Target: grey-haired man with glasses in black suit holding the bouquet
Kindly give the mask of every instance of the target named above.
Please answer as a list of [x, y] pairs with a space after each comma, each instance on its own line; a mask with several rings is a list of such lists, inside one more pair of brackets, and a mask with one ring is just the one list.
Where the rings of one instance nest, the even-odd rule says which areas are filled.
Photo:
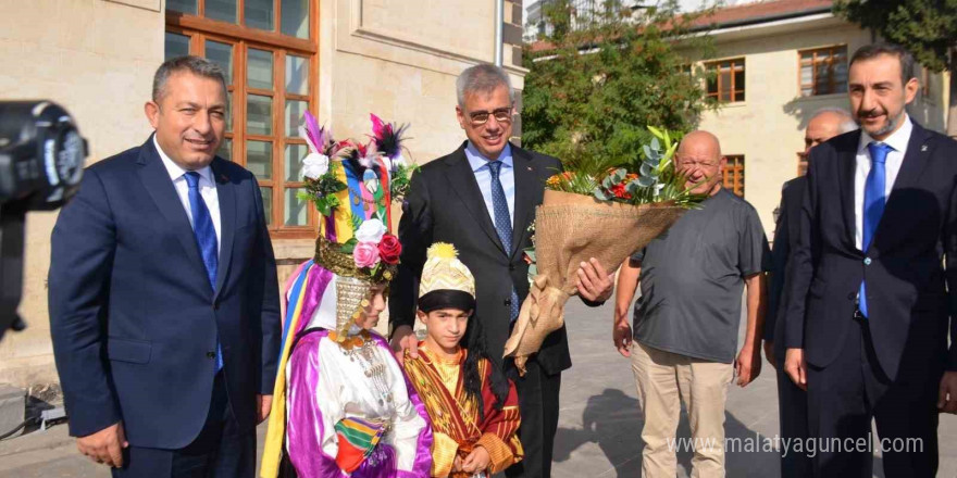
[[[402, 256], [389, 294], [391, 343], [397, 353], [417, 349], [412, 331], [425, 250], [437, 241], [458, 248], [475, 275], [476, 316], [488, 352], [500, 357], [519, 305], [529, 293], [529, 225], [542, 203], [545, 180], [561, 171], [559, 160], [521, 149], [512, 133], [514, 99], [508, 74], [481, 64], [459, 76], [459, 124], [469, 140], [451, 154], [422, 166], [402, 205]], [[592, 305], [611, 295], [613, 282], [593, 260], [579, 269], [579, 293]], [[549, 335], [529, 361], [524, 377], [513, 376], [525, 457], [506, 471], [511, 477], [547, 478], [558, 429], [561, 372], [571, 367], [566, 329]]]

